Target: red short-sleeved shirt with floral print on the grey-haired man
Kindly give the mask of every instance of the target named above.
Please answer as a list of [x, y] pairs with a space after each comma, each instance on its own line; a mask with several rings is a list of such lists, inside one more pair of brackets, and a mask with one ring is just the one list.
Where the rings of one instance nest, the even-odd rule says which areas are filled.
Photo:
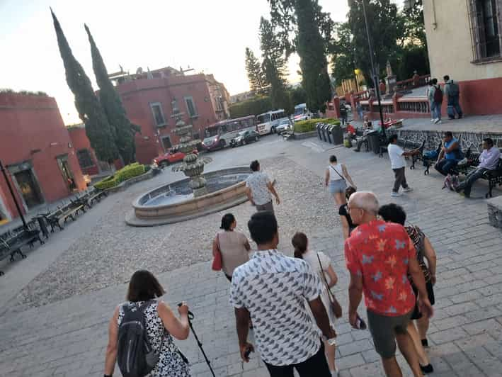
[[408, 280], [408, 262], [416, 251], [399, 224], [374, 220], [359, 225], [345, 242], [351, 274], [363, 276], [366, 308], [380, 315], [409, 313], [415, 295]]

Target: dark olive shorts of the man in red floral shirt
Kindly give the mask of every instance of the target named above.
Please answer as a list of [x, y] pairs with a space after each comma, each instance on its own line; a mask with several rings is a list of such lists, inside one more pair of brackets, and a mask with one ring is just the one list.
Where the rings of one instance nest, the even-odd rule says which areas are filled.
[[413, 310], [405, 315], [390, 317], [367, 310], [367, 322], [370, 326], [373, 344], [383, 359], [390, 359], [396, 355], [396, 335], [406, 334], [406, 327], [410, 322]]

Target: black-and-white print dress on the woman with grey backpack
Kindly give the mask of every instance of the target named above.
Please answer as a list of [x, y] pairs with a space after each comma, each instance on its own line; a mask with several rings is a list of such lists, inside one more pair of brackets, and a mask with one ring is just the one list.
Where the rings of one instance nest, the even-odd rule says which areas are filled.
[[[124, 305], [141, 306], [144, 301], [137, 303], [123, 303], [118, 312], [118, 325], [124, 319]], [[147, 377], [190, 377], [188, 364], [183, 361], [181, 353], [173, 342], [173, 337], [164, 328], [159, 313], [157, 313], [158, 301], [152, 301], [144, 310], [144, 320], [147, 325], [147, 334], [152, 348], [159, 354], [159, 362]]]

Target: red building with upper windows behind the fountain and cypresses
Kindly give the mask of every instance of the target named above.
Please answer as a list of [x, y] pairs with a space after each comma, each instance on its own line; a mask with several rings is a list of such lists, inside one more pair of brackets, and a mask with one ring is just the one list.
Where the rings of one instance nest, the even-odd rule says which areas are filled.
[[152, 163], [179, 140], [173, 133], [173, 101], [186, 124], [194, 126], [194, 137], [204, 137], [205, 127], [229, 117], [229, 94], [212, 74], [186, 75], [171, 67], [137, 74], [112, 74], [115, 89], [127, 116], [141, 127], [136, 135], [137, 161]]

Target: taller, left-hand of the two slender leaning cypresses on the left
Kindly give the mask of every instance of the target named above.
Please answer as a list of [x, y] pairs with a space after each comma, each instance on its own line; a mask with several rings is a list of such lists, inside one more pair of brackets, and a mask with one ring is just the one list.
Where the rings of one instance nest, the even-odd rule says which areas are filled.
[[91, 80], [73, 56], [72, 49], [69, 47], [67, 38], [64, 36], [52, 9], [50, 12], [56, 30], [57, 45], [66, 70], [67, 83], [75, 96], [75, 107], [79, 112], [79, 117], [86, 125], [86, 135], [89, 137], [91, 147], [96, 152], [98, 159], [112, 162], [118, 158], [114, 130], [110, 127], [103, 108], [101, 108], [93, 91]]

